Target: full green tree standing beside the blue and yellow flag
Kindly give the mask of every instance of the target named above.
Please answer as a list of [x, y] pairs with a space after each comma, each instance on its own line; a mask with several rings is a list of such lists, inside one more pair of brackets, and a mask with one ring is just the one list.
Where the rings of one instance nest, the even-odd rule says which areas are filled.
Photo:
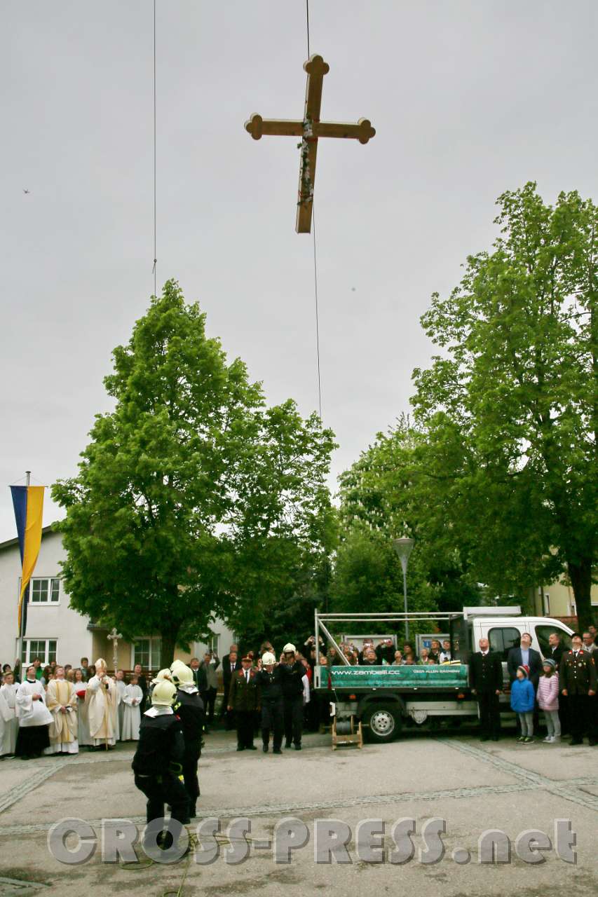
[[267, 408], [174, 281], [113, 362], [114, 410], [52, 490], [66, 589], [129, 639], [160, 635], [168, 662], [215, 615], [264, 614], [298, 559], [326, 554], [333, 437], [290, 400]]

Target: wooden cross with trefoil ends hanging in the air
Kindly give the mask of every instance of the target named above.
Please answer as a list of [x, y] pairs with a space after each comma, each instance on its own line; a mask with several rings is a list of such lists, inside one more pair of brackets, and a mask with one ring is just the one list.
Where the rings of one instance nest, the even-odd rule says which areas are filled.
[[297, 200], [297, 220], [295, 231], [309, 233], [312, 230], [313, 185], [315, 183], [315, 163], [319, 137], [353, 137], [360, 144], [366, 144], [374, 135], [372, 123], [360, 118], [356, 125], [341, 125], [336, 122], [320, 121], [321, 89], [324, 75], [330, 65], [321, 56], [314, 55], [303, 63], [307, 72], [305, 88], [305, 109], [303, 121], [261, 118], [254, 113], [245, 122], [245, 130], [254, 140], [266, 135], [301, 137], [301, 165], [299, 168], [299, 198]]

